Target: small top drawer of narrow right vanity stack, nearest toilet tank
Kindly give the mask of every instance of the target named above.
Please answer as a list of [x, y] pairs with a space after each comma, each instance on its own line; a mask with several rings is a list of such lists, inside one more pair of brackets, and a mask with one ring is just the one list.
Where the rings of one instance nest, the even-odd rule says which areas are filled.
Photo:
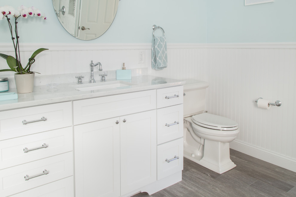
[[183, 103], [183, 86], [167, 87], [157, 90], [157, 108]]

